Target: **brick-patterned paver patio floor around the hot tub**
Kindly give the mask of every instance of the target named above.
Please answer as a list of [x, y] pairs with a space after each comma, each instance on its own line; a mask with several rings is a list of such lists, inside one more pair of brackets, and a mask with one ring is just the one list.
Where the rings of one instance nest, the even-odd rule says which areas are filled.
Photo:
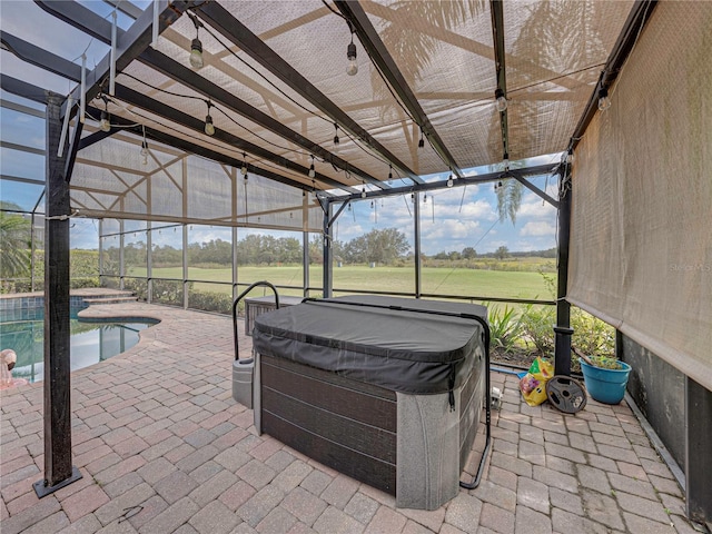
[[256, 435], [253, 412], [231, 397], [230, 319], [140, 303], [82, 314], [161, 323], [72, 374], [83, 478], [41, 501], [42, 385], [1, 393], [2, 534], [695, 532], [625, 404], [531, 408], [515, 376], [493, 373], [504, 403], [479, 487], [433, 512], [397, 510], [394, 497]]

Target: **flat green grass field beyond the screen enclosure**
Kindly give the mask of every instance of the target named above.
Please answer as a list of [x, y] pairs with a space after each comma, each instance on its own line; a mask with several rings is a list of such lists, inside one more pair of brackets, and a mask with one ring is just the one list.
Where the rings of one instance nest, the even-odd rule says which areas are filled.
[[[146, 276], [146, 269], [134, 268], [130, 276]], [[309, 268], [310, 285], [322, 285], [322, 267]], [[154, 278], [182, 279], [180, 267], [154, 268]], [[190, 267], [188, 273], [196, 290], [231, 293], [229, 285], [211, 283], [230, 283], [233, 273], [229, 268], [206, 269]], [[267, 280], [276, 286], [301, 287], [301, 266], [275, 266], [238, 268], [240, 284]], [[413, 293], [415, 274], [412, 267], [374, 267], [344, 266], [334, 268], [333, 287], [340, 290]], [[553, 297], [546, 288], [545, 280], [538, 273], [511, 270], [482, 270], [467, 268], [425, 267], [422, 269], [422, 291], [461, 297], [485, 298], [540, 298], [551, 300]], [[280, 290], [280, 294], [300, 295], [295, 291]]]

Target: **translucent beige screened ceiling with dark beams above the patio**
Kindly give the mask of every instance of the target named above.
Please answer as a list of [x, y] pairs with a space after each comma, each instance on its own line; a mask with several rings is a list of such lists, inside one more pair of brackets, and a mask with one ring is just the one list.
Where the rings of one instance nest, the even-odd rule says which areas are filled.
[[[464, 178], [473, 175], [467, 169], [501, 166], [505, 156], [536, 170], [528, 158], [571, 147], [605, 87], [610, 73], [602, 72], [620, 36], [646, 3], [106, 1], [128, 23], [116, 30], [113, 90], [110, 52], [87, 67], [87, 118], [72, 177], [76, 191], [89, 191], [82, 202], [97, 200], [96, 212], [108, 181], [131, 188], [129, 175], [169, 168], [185, 151], [234, 172], [246, 162], [266, 187], [337, 196], [418, 187], [435, 172]], [[88, 39], [111, 43], [112, 18], [95, 12], [92, 2], [34, 3]], [[70, 80], [75, 103], [63, 111], [77, 113], [81, 60], [4, 26], [2, 53]], [[200, 69], [189, 61], [196, 38]], [[354, 76], [347, 73], [352, 39]], [[7, 76], [2, 88], [30, 98], [37, 89]], [[502, 111], [498, 91], [507, 99]], [[111, 131], [98, 128], [102, 110]], [[205, 131], [208, 115], [212, 135]], [[144, 135], [148, 168], [139, 156]]]

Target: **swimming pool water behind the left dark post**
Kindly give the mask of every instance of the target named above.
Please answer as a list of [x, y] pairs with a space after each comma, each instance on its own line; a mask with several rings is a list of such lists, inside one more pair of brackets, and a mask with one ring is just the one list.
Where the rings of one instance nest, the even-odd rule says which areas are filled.
[[[70, 367], [71, 370], [88, 367], [121, 354], [138, 343], [138, 333], [156, 322], [92, 323], [79, 320], [70, 312]], [[0, 317], [0, 349], [11, 348], [18, 355], [12, 369], [13, 378], [39, 382], [44, 374], [44, 317], [43, 308], [30, 308], [3, 313]]]

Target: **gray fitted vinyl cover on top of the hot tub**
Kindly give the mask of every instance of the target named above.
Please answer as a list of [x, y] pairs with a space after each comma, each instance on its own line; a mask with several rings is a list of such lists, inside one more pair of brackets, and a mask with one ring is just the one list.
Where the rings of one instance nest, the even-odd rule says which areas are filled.
[[253, 344], [259, 354], [354, 380], [437, 394], [459, 387], [484, 355], [483, 327], [473, 316], [486, 317], [486, 308], [382, 296], [307, 300], [259, 315]]

